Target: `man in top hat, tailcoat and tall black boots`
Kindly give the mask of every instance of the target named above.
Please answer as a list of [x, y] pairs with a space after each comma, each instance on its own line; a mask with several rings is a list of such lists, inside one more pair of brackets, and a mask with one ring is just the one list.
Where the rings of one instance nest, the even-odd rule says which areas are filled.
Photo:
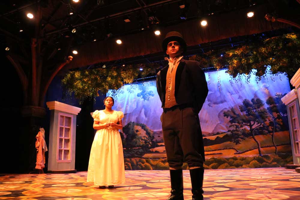
[[164, 112], [161, 115], [171, 196], [183, 199], [182, 165], [190, 168], [193, 200], [203, 199], [204, 146], [198, 113], [208, 94], [205, 74], [197, 61], [184, 60], [187, 45], [182, 35], [169, 32], [162, 47], [169, 64], [157, 74], [156, 86]]

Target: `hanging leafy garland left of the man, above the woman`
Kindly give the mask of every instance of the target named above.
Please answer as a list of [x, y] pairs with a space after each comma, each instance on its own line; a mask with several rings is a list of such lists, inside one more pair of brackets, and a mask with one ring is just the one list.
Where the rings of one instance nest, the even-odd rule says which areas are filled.
[[113, 90], [116, 93], [123, 84], [134, 82], [139, 75], [143, 78], [148, 74], [155, 74], [159, 67], [158, 64], [137, 64], [70, 71], [62, 79], [62, 84], [69, 94], [73, 93], [80, 100], [79, 103], [82, 103], [85, 98], [98, 96], [98, 91], [105, 94], [108, 90]]

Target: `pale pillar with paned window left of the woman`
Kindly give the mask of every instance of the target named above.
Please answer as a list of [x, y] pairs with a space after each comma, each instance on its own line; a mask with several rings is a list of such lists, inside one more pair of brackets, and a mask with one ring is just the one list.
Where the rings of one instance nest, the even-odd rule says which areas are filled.
[[46, 104], [51, 110], [48, 173], [76, 172], [76, 116], [81, 108], [58, 101]]

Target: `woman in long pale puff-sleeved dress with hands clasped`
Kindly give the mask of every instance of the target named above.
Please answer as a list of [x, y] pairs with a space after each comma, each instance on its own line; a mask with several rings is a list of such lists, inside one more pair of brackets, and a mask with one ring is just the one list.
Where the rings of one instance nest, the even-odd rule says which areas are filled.
[[104, 110], [93, 113], [97, 130], [88, 162], [88, 182], [94, 182], [99, 188], [114, 187], [125, 183], [123, 146], [119, 129], [122, 129], [123, 112], [112, 109], [113, 97], [104, 99]]

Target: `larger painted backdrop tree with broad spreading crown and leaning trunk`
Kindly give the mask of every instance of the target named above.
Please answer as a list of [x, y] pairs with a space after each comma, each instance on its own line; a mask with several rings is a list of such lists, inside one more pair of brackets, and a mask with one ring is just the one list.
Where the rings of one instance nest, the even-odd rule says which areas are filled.
[[268, 120], [268, 110], [264, 108], [264, 103], [259, 98], [251, 100], [244, 99], [242, 104], [238, 106], [239, 111], [231, 108], [223, 112], [224, 117], [229, 118], [232, 127], [232, 142], [241, 143], [246, 138], [252, 138], [258, 147], [258, 153], [262, 156], [260, 142], [255, 136], [266, 134], [265, 131], [257, 131], [259, 127]]

